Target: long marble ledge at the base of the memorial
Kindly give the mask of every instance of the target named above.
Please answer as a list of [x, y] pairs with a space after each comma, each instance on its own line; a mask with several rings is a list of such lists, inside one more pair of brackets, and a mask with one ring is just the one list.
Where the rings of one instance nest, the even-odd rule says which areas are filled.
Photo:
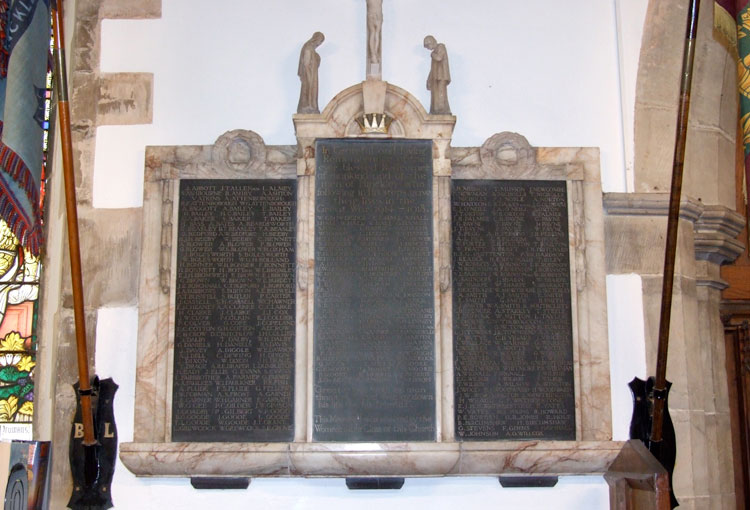
[[438, 477], [601, 475], [618, 441], [463, 443], [122, 443], [120, 458], [151, 477]]

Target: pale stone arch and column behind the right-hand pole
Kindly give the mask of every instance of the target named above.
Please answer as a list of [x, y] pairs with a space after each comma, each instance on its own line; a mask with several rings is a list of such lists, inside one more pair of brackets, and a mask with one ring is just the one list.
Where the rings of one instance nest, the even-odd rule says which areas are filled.
[[[667, 194], [671, 187], [687, 1], [650, 0], [641, 41], [634, 112], [634, 206], [626, 215], [640, 236], [660, 247], [647, 262], [643, 251], [635, 272], [643, 285], [648, 373], [656, 361], [661, 268]], [[673, 328], [667, 377], [673, 383], [670, 412], [677, 432], [674, 489], [684, 505], [711, 504], [732, 484], [724, 339], [719, 322], [719, 265], [737, 256], [735, 209], [737, 136], [736, 54], [714, 35], [713, 2], [698, 20], [691, 105], [678, 230]], [[648, 225], [636, 203], [652, 202]], [[695, 213], [690, 211], [694, 210]], [[619, 221], [619, 220], [615, 220]], [[614, 223], [611, 223], [613, 225]], [[633, 227], [629, 227], [633, 228]], [[616, 234], [610, 236], [614, 244]], [[628, 248], [630, 250], [631, 248]], [[739, 251], [738, 251], [739, 249]], [[675, 317], [680, 320], [674, 322]], [[694, 374], [700, 371], [701, 383]], [[697, 431], [700, 431], [699, 433]], [[726, 459], [720, 463], [718, 459]]]

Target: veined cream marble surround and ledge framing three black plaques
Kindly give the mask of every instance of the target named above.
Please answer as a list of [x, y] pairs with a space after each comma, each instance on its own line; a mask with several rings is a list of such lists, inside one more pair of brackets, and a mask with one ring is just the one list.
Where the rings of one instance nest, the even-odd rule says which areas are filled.
[[[363, 127], [388, 119], [388, 133]], [[297, 145], [267, 146], [247, 130], [211, 146], [149, 147], [143, 203], [134, 441], [120, 445], [139, 476], [450, 476], [602, 474], [623, 447], [611, 441], [605, 250], [596, 148], [531, 147], [498, 133], [451, 147], [456, 117], [431, 115], [407, 91], [369, 76], [321, 113], [293, 118]], [[363, 122], [364, 120], [364, 122]], [[315, 141], [432, 142], [435, 440], [313, 440]], [[296, 179], [294, 434], [289, 442], [172, 440], [177, 225], [181, 179]], [[460, 441], [454, 430], [451, 179], [564, 181], [568, 200], [575, 440]]]

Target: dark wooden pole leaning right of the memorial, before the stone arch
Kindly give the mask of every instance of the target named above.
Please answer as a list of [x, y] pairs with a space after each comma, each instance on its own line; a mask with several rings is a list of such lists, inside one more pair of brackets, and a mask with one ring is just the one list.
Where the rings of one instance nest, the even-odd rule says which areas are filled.
[[669, 322], [672, 315], [672, 287], [674, 281], [675, 255], [677, 252], [677, 225], [680, 221], [680, 195], [682, 194], [682, 170], [685, 163], [685, 140], [690, 112], [690, 87], [693, 78], [695, 56], [695, 34], [698, 29], [700, 0], [690, 0], [687, 33], [682, 55], [682, 81], [680, 104], [677, 109], [674, 159], [672, 165], [672, 189], [669, 195], [669, 217], [667, 219], [667, 247], [664, 251], [664, 280], [661, 294], [661, 318], [659, 321], [659, 346], [656, 355], [656, 380], [654, 382], [654, 411], [651, 423], [651, 441], [662, 438], [664, 402], [667, 398], [667, 353], [669, 352]]

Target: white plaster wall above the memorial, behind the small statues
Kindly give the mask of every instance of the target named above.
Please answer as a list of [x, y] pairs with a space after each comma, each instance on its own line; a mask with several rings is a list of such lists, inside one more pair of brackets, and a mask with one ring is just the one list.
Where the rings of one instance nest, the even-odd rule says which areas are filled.
[[[294, 143], [302, 43], [316, 30], [327, 38], [319, 49], [322, 107], [364, 79], [364, 4], [164, 0], [162, 19], [105, 20], [101, 70], [154, 72], [154, 123], [99, 128], [94, 206], [141, 204], [146, 144], [210, 144], [236, 128], [269, 144]], [[600, 147], [605, 190], [625, 191], [614, 2], [471, 6], [386, 1], [383, 78], [429, 104], [422, 40], [433, 34], [450, 57], [454, 145], [481, 145], [508, 130], [536, 146]]]

